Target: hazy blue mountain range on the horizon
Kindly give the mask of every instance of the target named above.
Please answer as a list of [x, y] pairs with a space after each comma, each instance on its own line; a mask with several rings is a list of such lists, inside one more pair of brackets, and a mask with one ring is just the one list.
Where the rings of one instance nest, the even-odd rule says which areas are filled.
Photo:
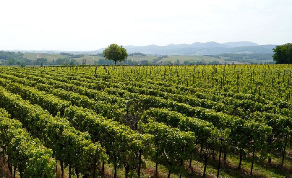
[[[195, 42], [193, 44], [179, 45], [148, 45], [148, 46], [124, 46], [128, 53], [144, 53], [157, 55], [216, 55], [222, 53], [247, 53], [247, 54], [267, 54], [273, 53], [273, 48], [276, 45], [258, 45], [253, 42]], [[97, 53], [102, 53], [104, 48], [97, 50]]]

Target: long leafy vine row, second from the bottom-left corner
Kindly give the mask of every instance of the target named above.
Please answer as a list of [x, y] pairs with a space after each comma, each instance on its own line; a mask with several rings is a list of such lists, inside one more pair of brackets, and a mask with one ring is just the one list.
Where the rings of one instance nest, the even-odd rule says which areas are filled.
[[39, 138], [53, 150], [56, 160], [69, 165], [70, 174], [95, 174], [95, 164], [106, 160], [107, 156], [99, 143], [92, 143], [90, 136], [75, 130], [61, 117], [52, 117], [40, 106], [32, 105], [20, 96], [0, 87], [0, 106], [13, 117], [18, 118], [29, 133]]

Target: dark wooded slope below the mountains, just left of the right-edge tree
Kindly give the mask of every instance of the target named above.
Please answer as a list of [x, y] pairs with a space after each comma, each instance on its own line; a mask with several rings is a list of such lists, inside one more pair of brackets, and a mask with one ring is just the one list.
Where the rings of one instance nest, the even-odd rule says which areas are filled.
[[254, 59], [254, 60], [270, 60], [273, 59], [273, 54], [233, 54], [233, 53], [225, 53], [225, 54], [217, 54], [217, 55], [205, 55], [213, 58], [221, 59], [221, 57], [229, 58], [228, 61], [232, 61], [234, 59]]

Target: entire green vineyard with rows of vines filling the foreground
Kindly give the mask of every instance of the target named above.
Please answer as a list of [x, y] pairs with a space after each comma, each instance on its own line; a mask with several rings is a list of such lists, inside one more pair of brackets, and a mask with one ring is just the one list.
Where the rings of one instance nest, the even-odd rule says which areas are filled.
[[10, 174], [292, 177], [292, 65], [0, 67]]

